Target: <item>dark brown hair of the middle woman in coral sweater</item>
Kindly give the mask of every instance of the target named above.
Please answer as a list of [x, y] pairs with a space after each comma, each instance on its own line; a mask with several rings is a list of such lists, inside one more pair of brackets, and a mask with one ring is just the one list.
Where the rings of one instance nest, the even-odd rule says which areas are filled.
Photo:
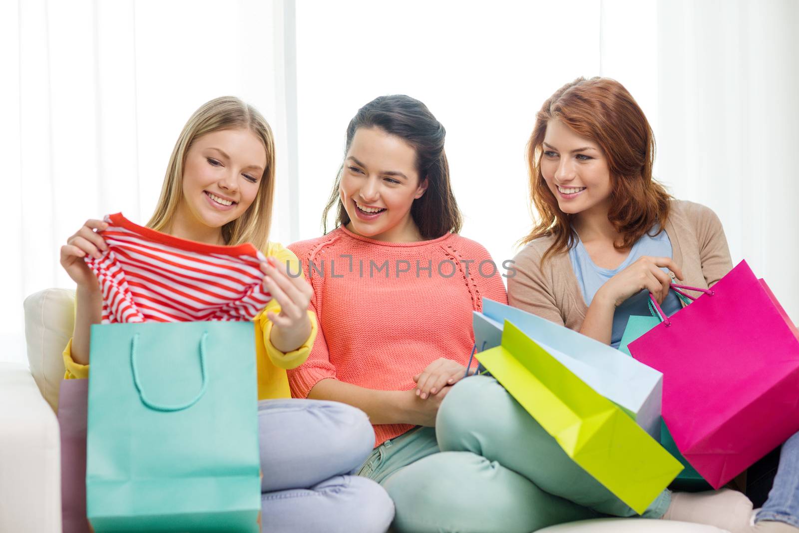
[[[389, 135], [400, 137], [416, 152], [416, 171], [419, 183], [427, 179], [427, 191], [413, 201], [411, 217], [425, 239], [435, 239], [446, 233], [458, 233], [462, 217], [450, 185], [449, 164], [444, 153], [444, 137], [447, 131], [435, 119], [433, 113], [419, 100], [394, 94], [376, 97], [358, 109], [347, 126], [347, 146], [358, 128], [380, 128]], [[339, 197], [339, 186], [344, 165], [336, 176], [336, 183], [322, 214], [322, 228], [328, 233], [328, 213], [336, 207], [336, 227], [349, 224], [350, 218]]]

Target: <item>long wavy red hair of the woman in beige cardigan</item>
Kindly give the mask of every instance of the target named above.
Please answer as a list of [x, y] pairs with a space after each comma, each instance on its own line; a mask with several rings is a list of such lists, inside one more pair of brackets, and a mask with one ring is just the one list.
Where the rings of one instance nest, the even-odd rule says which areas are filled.
[[574, 245], [574, 215], [560, 210], [541, 173], [544, 135], [547, 124], [554, 119], [602, 148], [611, 181], [607, 218], [622, 235], [622, 241], [614, 243], [615, 248], [630, 248], [655, 224], [662, 231], [669, 217], [671, 197], [652, 177], [654, 134], [649, 121], [621, 83], [610, 78], [577, 78], [555, 91], [535, 115], [535, 128], [527, 143], [527, 164], [530, 197], [538, 217], [530, 235], [520, 242], [555, 237], [544, 258], [566, 252]]

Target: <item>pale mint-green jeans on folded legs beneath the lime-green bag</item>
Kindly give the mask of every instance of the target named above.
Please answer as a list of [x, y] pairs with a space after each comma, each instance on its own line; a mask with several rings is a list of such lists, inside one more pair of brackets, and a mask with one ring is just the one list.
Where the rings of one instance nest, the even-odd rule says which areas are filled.
[[[635, 516], [582, 470], [497, 380], [461, 380], [432, 428], [376, 447], [361, 475], [396, 505], [400, 533], [529, 533], [602, 515]], [[660, 518], [663, 491], [643, 514]]]

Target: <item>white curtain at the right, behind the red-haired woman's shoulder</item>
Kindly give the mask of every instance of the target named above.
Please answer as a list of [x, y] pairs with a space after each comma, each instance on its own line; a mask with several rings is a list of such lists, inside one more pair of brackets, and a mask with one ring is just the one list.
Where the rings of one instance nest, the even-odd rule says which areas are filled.
[[765, 278], [795, 323], [797, 29], [794, 0], [658, 3], [660, 176], [718, 213], [733, 263]]

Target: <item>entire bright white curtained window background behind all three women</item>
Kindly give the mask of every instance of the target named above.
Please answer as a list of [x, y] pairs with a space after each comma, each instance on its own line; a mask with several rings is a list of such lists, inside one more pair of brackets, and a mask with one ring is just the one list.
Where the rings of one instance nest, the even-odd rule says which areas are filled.
[[[530, 228], [524, 149], [563, 83], [622, 82], [658, 141], [656, 176], [721, 217], [799, 320], [793, 0], [311, 2], [18, 0], [0, 5], [6, 230], [0, 360], [24, 360], [23, 298], [70, 286], [58, 248], [86, 218], [145, 222], [182, 125], [221, 94], [275, 130], [272, 238], [320, 235], [344, 130], [407, 93], [447, 127], [463, 235], [498, 263]], [[295, 44], [296, 43], [296, 44]]]

